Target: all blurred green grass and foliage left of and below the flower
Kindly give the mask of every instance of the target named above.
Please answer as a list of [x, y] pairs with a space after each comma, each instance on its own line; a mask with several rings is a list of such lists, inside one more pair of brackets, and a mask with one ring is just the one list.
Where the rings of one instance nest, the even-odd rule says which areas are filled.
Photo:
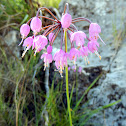
[[[0, 2], [0, 125], [24, 126], [46, 125], [69, 126], [64, 80], [54, 74], [50, 66], [49, 96], [45, 89], [45, 72], [39, 60], [29, 51], [24, 59], [13, 53], [4, 41], [4, 36], [11, 30], [19, 31], [21, 24], [35, 15], [41, 6], [58, 8], [60, 0], [1, 0]], [[20, 37], [19, 37], [20, 38]], [[18, 45], [18, 43], [17, 43]], [[22, 51], [22, 50], [21, 50]], [[21, 53], [20, 51], [20, 53]], [[53, 73], [53, 74], [51, 74]], [[101, 73], [102, 74], [102, 73]], [[90, 88], [97, 83], [101, 74], [85, 90], [81, 98], [78, 94], [78, 73], [72, 83], [70, 93], [71, 112], [74, 126], [89, 124], [94, 114], [115, 103], [92, 110], [84, 100]], [[82, 108], [82, 104], [84, 104]], [[93, 124], [90, 124], [93, 125]]]

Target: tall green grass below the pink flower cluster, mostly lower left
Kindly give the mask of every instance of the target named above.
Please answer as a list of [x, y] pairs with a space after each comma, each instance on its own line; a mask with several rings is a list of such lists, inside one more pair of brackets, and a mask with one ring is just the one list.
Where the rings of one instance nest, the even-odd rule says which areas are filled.
[[[24, 60], [12, 60], [7, 58], [6, 51], [0, 48], [2, 59], [2, 64], [0, 64], [0, 119], [7, 125], [16, 125], [16, 118], [18, 117], [19, 126], [25, 124], [28, 125], [39, 125], [42, 119], [42, 111], [44, 111], [46, 106], [46, 111], [49, 117], [49, 126], [69, 126], [69, 116], [66, 104], [64, 103], [63, 94], [65, 91], [62, 89], [63, 80], [57, 83], [54, 88], [54, 83], [56, 83], [56, 77], [58, 73], [55, 73], [52, 80], [52, 84], [49, 90], [49, 97], [46, 98], [42, 90], [38, 90], [38, 84], [36, 79], [33, 78], [34, 68], [37, 64], [40, 56], [33, 56], [32, 50], [24, 57]], [[7, 65], [5, 69], [5, 65]], [[23, 68], [23, 69], [22, 69]], [[8, 72], [6, 72], [8, 71]], [[40, 71], [38, 68], [37, 73]], [[36, 74], [37, 74], [36, 73]], [[99, 80], [101, 75], [99, 75], [92, 84], [87, 88], [82, 97], [76, 100], [76, 104], [73, 106], [71, 104], [71, 114], [74, 126], [83, 126], [88, 124], [88, 120], [96, 113], [117, 104], [119, 101], [101, 106], [97, 109], [92, 109], [89, 107], [89, 101], [83, 103], [83, 98], [86, 96], [88, 91], [94, 86], [94, 84]], [[33, 79], [31, 79], [33, 78]], [[76, 79], [78, 79], [76, 77]], [[75, 81], [77, 82], [77, 80]], [[10, 88], [11, 87], [11, 88]], [[9, 89], [8, 89], [9, 88]], [[72, 91], [70, 93], [70, 102], [73, 103], [73, 90], [75, 85], [73, 85]], [[5, 92], [12, 94], [9, 95], [9, 99], [6, 101]], [[22, 92], [22, 93], [21, 93]], [[6, 94], [6, 95], [5, 95]], [[4, 96], [4, 97], [3, 97]], [[44, 102], [41, 98], [45, 98]], [[5, 102], [6, 101], [6, 102]], [[83, 104], [85, 107], [81, 107]], [[33, 106], [33, 108], [32, 108]], [[32, 110], [30, 110], [32, 108]], [[35, 111], [34, 111], [35, 110]], [[34, 116], [34, 114], [36, 116]], [[34, 118], [34, 120], [32, 120]], [[46, 120], [45, 115], [43, 119]], [[93, 125], [93, 124], [92, 124]]]

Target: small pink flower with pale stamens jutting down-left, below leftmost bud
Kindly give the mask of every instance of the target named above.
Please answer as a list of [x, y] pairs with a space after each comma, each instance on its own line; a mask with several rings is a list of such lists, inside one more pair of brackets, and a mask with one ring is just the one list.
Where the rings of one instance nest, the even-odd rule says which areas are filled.
[[22, 54], [22, 57], [24, 57], [25, 53], [31, 48], [32, 44], [33, 44], [33, 38], [32, 37], [28, 37], [24, 40], [23, 46], [25, 46], [26, 48], [25, 48], [25, 50]]

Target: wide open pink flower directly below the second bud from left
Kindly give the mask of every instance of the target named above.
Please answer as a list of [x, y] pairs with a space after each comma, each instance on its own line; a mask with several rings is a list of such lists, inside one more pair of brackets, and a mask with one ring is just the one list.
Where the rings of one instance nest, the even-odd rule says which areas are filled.
[[32, 49], [36, 49], [36, 52], [40, 52], [46, 45], [48, 44], [48, 40], [44, 35], [38, 35], [33, 40], [33, 47]]

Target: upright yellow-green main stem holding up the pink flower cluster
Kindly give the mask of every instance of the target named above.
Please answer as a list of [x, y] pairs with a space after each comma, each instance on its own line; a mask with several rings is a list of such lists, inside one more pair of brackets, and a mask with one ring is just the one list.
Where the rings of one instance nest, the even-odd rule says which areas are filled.
[[[67, 32], [64, 30], [65, 36], [65, 52], [67, 52]], [[66, 72], [66, 95], [67, 95], [67, 106], [69, 111], [69, 121], [70, 126], [72, 126], [72, 118], [71, 118], [71, 111], [70, 111], [70, 99], [69, 99], [69, 85], [68, 85], [68, 66], [65, 67]]]

